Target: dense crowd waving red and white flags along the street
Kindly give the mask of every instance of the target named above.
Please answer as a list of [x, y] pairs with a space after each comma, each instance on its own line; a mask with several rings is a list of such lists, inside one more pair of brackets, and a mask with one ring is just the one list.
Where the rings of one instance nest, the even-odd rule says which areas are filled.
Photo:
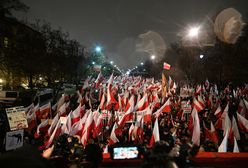
[[27, 107], [26, 131], [46, 158], [97, 167], [114, 146], [136, 145], [143, 167], [186, 167], [198, 151], [247, 152], [247, 97], [247, 85], [99, 74], [53, 105]]

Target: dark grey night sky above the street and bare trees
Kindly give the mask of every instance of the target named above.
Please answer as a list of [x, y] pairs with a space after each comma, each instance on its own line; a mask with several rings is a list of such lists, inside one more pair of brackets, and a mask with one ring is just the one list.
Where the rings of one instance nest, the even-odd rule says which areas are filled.
[[88, 48], [100, 44], [104, 54], [121, 68], [132, 68], [147, 58], [147, 54], [135, 52], [139, 34], [155, 31], [168, 46], [185, 26], [203, 22], [224, 8], [233, 7], [246, 18], [248, 11], [247, 0], [21, 1], [30, 10], [18, 13], [20, 19], [44, 19]]

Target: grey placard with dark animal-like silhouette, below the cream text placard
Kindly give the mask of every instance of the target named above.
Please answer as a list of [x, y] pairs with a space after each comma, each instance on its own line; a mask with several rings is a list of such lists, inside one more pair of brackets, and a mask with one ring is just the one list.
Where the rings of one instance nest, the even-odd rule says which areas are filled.
[[20, 148], [23, 146], [23, 135], [24, 130], [16, 130], [6, 133], [6, 143], [5, 149], [6, 151], [13, 150], [16, 148]]

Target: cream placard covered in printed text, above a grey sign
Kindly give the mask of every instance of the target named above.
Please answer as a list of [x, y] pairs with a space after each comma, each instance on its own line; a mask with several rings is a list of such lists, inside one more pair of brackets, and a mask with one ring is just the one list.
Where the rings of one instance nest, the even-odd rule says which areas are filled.
[[28, 122], [23, 106], [6, 108], [5, 111], [11, 131], [28, 128]]

